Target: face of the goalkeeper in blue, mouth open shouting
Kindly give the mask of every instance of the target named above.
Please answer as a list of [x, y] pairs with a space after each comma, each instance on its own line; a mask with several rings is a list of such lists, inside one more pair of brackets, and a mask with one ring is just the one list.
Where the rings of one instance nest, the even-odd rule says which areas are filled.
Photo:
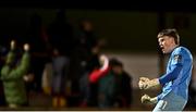
[[163, 53], [170, 53], [177, 46], [174, 38], [169, 36], [158, 38], [158, 42]]

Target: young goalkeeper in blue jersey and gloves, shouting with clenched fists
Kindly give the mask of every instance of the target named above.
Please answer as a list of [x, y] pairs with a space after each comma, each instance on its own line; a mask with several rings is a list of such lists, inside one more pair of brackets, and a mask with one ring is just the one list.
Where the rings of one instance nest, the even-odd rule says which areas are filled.
[[182, 111], [188, 99], [188, 85], [193, 69], [189, 50], [180, 46], [180, 36], [175, 29], [163, 29], [158, 34], [162, 52], [170, 53], [167, 72], [159, 78], [139, 78], [139, 88], [149, 89], [162, 85], [162, 92], [157, 97], [144, 95], [143, 103], [157, 103], [155, 111]]

